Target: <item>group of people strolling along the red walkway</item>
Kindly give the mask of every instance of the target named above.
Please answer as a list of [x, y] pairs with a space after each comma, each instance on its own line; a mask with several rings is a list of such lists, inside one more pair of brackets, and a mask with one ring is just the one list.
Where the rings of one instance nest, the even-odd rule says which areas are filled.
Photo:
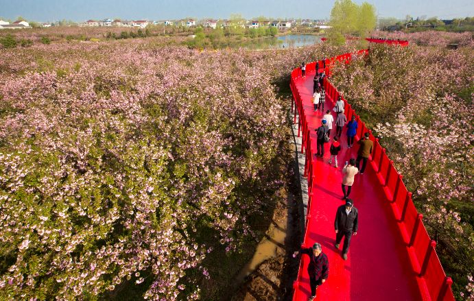
[[[314, 110], [319, 110], [322, 104], [322, 110], [324, 112], [324, 88], [320, 83], [320, 75], [315, 76], [315, 88], [313, 92], [313, 104]], [[318, 83], [318, 85], [316, 85]], [[355, 135], [357, 133], [357, 121], [353, 116], [351, 121], [347, 122], [346, 116], [344, 115], [344, 101], [341, 97], [338, 97], [335, 106], [334, 112], [337, 117], [334, 121], [333, 115], [330, 110], [326, 111], [326, 114], [322, 117], [321, 125], [316, 129], [317, 135], [317, 154], [316, 156], [324, 156], [324, 144], [329, 143], [330, 134], [332, 130], [333, 122], [336, 125], [336, 131], [333, 136], [333, 142], [329, 148], [331, 156], [329, 157], [329, 164], [332, 164], [334, 161], [334, 166], [337, 167], [337, 155], [342, 149], [340, 142], [340, 137], [342, 135], [342, 129], [344, 125], [347, 128], [347, 147], [353, 147], [355, 140]], [[369, 139], [369, 133], [365, 133], [364, 137], [357, 141], [359, 144], [359, 149], [357, 151], [357, 159], [351, 158], [346, 161], [342, 169], [342, 200], [345, 200], [345, 204], [337, 208], [334, 220], [334, 230], [335, 230], [335, 248], [339, 250], [340, 243], [344, 239], [344, 245], [342, 247], [342, 258], [347, 259], [347, 253], [349, 249], [349, 244], [351, 243], [351, 237], [357, 235], [358, 229], [358, 210], [353, 206], [354, 202], [349, 195], [351, 194], [351, 189], [354, 183], [354, 178], [357, 173], [364, 174], [366, 169], [367, 160], [372, 154], [373, 142]], [[360, 168], [360, 162], [362, 161], [362, 168]], [[329, 275], [329, 263], [326, 254], [322, 252], [320, 243], [314, 243], [311, 248], [301, 248], [299, 251], [294, 252], [294, 256], [298, 254], [307, 254], [310, 258], [308, 265], [309, 273], [309, 284], [311, 287], [311, 297], [309, 300], [316, 298], [316, 289], [319, 285], [324, 283]]]

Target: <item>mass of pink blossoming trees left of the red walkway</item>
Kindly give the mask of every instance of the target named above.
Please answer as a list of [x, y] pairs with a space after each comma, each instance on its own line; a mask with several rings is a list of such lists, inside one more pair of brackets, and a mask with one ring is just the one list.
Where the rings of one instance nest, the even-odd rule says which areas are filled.
[[0, 51], [2, 300], [123, 282], [146, 299], [198, 299], [187, 272], [211, 277], [214, 242], [234, 252], [254, 239], [248, 218], [281, 185], [266, 171], [285, 137], [271, 81], [322, 53], [140, 40]]

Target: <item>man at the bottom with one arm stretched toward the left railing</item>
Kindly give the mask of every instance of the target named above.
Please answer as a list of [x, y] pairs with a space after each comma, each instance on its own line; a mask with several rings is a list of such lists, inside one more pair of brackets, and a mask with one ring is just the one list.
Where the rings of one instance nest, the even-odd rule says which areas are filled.
[[329, 262], [326, 254], [321, 250], [320, 243], [314, 243], [312, 248], [300, 248], [299, 251], [293, 253], [293, 257], [296, 257], [298, 254], [307, 254], [309, 256], [308, 275], [309, 287], [311, 287], [309, 301], [311, 301], [316, 298], [318, 286], [326, 282], [329, 275]]

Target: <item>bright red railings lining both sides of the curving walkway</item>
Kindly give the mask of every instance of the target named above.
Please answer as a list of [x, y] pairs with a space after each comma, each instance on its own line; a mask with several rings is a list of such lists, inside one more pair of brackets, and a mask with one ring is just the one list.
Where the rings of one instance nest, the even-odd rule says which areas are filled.
[[[370, 40], [370, 42], [373, 39]], [[380, 41], [380, 42], [379, 42]], [[383, 42], [382, 42], [383, 41]], [[398, 44], [403, 45], [404, 41], [388, 41], [388, 40], [377, 40], [375, 43], [388, 43], [388, 44]], [[368, 54], [368, 50], [364, 49], [357, 51], [357, 54]], [[352, 59], [353, 53], [344, 53], [340, 56], [334, 58], [329, 58], [326, 60], [326, 71], [327, 74], [331, 73], [331, 67], [333, 67], [334, 62], [337, 60], [339, 62], [349, 63]], [[319, 61], [318, 66], [322, 67], [323, 62]], [[315, 71], [316, 62], [307, 65], [307, 72], [310, 73]], [[321, 70], [322, 68], [320, 68]], [[300, 93], [296, 89], [295, 80], [297, 77], [301, 76], [300, 69], [294, 69], [292, 71], [292, 78], [290, 82], [290, 87], [292, 89], [294, 97], [294, 123], [296, 123], [296, 111], [298, 111], [298, 136], [300, 132], [303, 137], [303, 143], [301, 147], [301, 152], [306, 152], [306, 162], [305, 162], [305, 177], [308, 180], [308, 215], [306, 218], [305, 226], [305, 239], [303, 241], [303, 246], [306, 246], [307, 237], [311, 233], [312, 229], [316, 228], [316, 223], [318, 222], [314, 217], [311, 217], [309, 214], [311, 200], [313, 199], [313, 191], [315, 184], [315, 174], [316, 174], [316, 161], [314, 158], [313, 149], [311, 149], [311, 137], [309, 135], [309, 126], [307, 119], [305, 117], [305, 110], [303, 110], [303, 101], [301, 99]], [[324, 80], [324, 88], [326, 90], [328, 99], [334, 101], [340, 95], [337, 89], [327, 80]], [[369, 158], [370, 165], [377, 173], [377, 178], [379, 184], [383, 186], [385, 191], [386, 198], [389, 201], [387, 206], [392, 207], [392, 212], [397, 221], [400, 222], [400, 231], [403, 237], [403, 241], [407, 244], [407, 252], [409, 253], [410, 260], [412, 261], [412, 267], [414, 272], [420, 276], [422, 282], [425, 285], [420, 286], [420, 291], [422, 296], [427, 296], [431, 300], [445, 300], [452, 301], [454, 300], [453, 292], [451, 291], [451, 284], [453, 281], [451, 278], [447, 277], [442, 265], [439, 261], [438, 255], [436, 254], [436, 243], [435, 241], [429, 238], [429, 234], [425, 226], [423, 225], [423, 215], [418, 214], [413, 202], [412, 202], [412, 193], [407, 191], [405, 184], [403, 183], [403, 176], [396, 171], [393, 161], [388, 158], [386, 150], [381, 147], [379, 139], [376, 139], [372, 135], [372, 132], [368, 130], [365, 123], [359, 118], [355, 110], [351, 108], [351, 104], [348, 104], [346, 99], [344, 100], [345, 108], [344, 114], [347, 119], [350, 120], [352, 116], [356, 117], [358, 123], [356, 139], [362, 137], [364, 133], [368, 132], [370, 134], [369, 139], [374, 141], [374, 147], [372, 149], [372, 154]], [[307, 256], [303, 256], [300, 261], [300, 268], [298, 272], [298, 278], [294, 282], [295, 291], [299, 289], [300, 283], [303, 279], [303, 266], [307, 261]], [[296, 296], [296, 293], [294, 294]], [[296, 297], [294, 297], [296, 300]]]

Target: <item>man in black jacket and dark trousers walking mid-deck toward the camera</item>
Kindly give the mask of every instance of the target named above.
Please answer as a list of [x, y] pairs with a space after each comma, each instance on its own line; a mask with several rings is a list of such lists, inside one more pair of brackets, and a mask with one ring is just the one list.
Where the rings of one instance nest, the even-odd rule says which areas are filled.
[[357, 235], [357, 218], [359, 212], [353, 204], [353, 200], [347, 199], [346, 204], [337, 208], [337, 212], [335, 213], [335, 248], [339, 249], [342, 237], [344, 237], [344, 246], [342, 247], [342, 258], [344, 258], [344, 260], [347, 259], [351, 236]]

